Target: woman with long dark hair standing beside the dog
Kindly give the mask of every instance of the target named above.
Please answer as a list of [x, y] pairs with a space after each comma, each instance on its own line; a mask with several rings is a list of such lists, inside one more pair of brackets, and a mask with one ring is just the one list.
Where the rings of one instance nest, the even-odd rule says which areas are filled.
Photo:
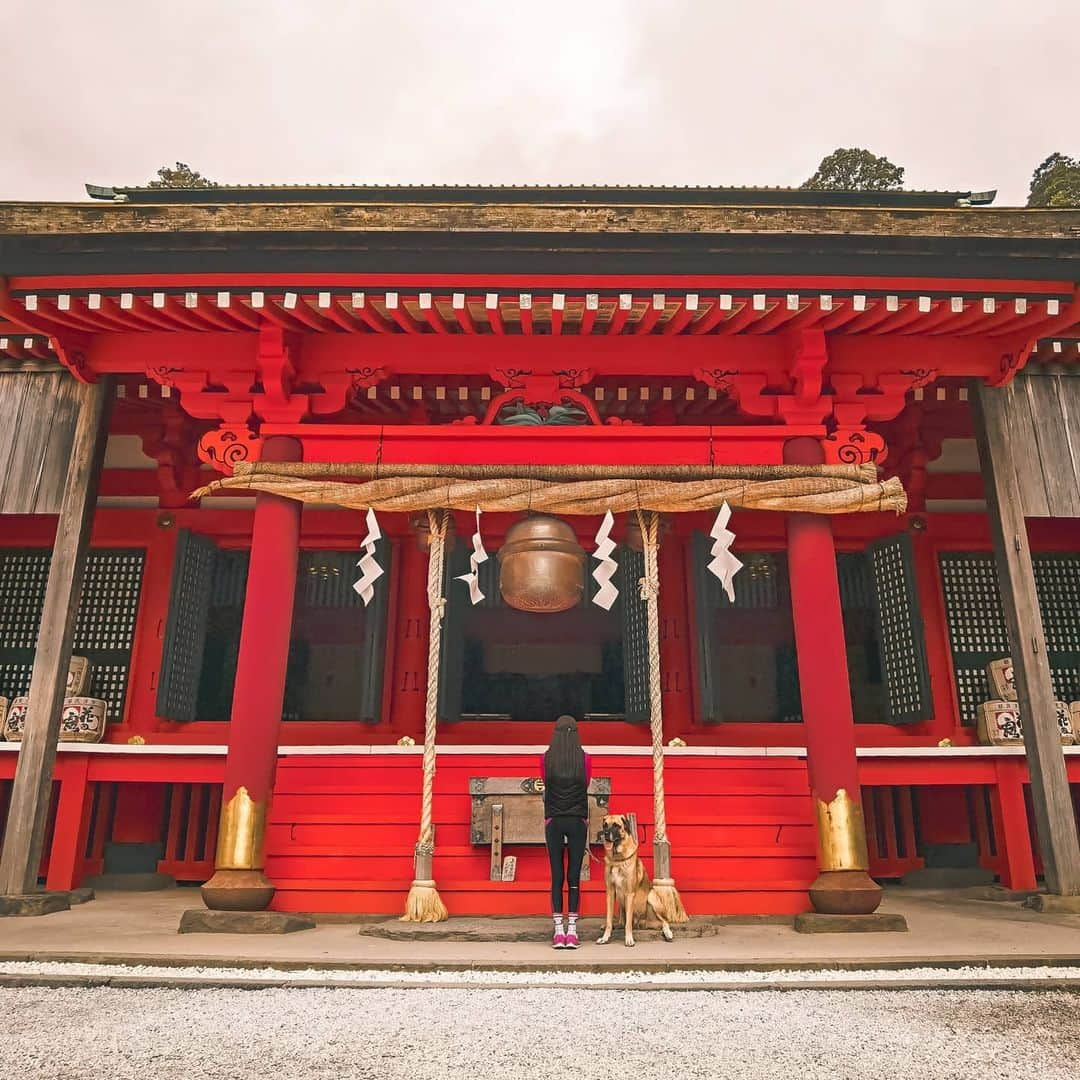
[[[577, 948], [581, 902], [581, 862], [589, 840], [589, 781], [592, 761], [581, 748], [578, 723], [561, 716], [548, 752], [540, 759], [543, 778], [544, 837], [551, 861], [551, 912], [555, 922], [552, 945]], [[563, 881], [567, 882], [566, 922]]]

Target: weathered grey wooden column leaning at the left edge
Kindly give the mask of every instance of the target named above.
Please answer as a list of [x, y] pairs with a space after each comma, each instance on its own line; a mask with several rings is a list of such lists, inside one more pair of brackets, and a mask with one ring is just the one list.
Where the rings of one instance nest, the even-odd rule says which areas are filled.
[[79, 418], [49, 564], [49, 584], [30, 676], [30, 707], [8, 811], [0, 859], [0, 895], [21, 895], [37, 889], [71, 640], [105, 457], [110, 389], [108, 379], [78, 384]]

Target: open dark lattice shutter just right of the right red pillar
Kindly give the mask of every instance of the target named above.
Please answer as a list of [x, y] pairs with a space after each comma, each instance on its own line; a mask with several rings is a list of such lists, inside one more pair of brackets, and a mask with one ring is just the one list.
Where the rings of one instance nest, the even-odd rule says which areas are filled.
[[912, 724], [930, 712], [926, 642], [906, 532], [870, 548], [877, 600], [881, 670], [893, 724]]

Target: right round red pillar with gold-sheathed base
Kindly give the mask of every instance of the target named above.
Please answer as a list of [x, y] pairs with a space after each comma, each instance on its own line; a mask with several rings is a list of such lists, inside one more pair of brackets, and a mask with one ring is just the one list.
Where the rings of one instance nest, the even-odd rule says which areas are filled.
[[[820, 463], [821, 444], [811, 438], [792, 440], [784, 448], [784, 460]], [[810, 899], [816, 910], [825, 914], [866, 915], [881, 902], [881, 889], [867, 873], [840, 582], [828, 517], [787, 515], [787, 566], [807, 770], [818, 824], [821, 873], [810, 889]]]

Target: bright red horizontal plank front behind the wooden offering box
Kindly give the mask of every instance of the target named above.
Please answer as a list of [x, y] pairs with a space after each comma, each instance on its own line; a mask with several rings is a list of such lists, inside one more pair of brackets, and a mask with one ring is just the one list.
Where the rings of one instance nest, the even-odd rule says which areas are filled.
[[[652, 765], [648, 756], [599, 754], [611, 809], [638, 816], [651, 862]], [[435, 879], [451, 915], [539, 915], [550, 909], [542, 846], [513, 845], [513, 882], [488, 879], [490, 849], [470, 843], [471, 777], [534, 777], [536, 755], [441, 755], [435, 773]], [[698, 915], [791, 914], [809, 906], [815, 876], [806, 767], [798, 758], [675, 757], [666, 768], [673, 864]], [[294, 912], [396, 914], [413, 878], [420, 813], [420, 758], [289, 756], [280, 759], [267, 833], [273, 906]], [[600, 849], [594, 849], [597, 855]], [[603, 867], [582, 889], [589, 914], [604, 908]]]

